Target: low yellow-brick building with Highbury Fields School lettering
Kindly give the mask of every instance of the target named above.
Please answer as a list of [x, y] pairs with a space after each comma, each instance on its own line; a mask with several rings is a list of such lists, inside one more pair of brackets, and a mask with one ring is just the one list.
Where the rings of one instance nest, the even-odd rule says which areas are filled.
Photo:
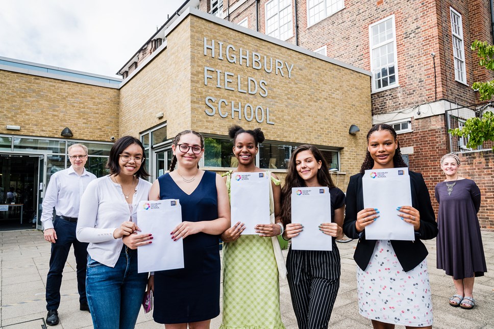
[[[234, 123], [265, 133], [260, 168], [283, 178], [292, 150], [312, 143], [346, 188], [366, 145], [349, 129], [372, 123], [368, 71], [194, 8], [159, 33], [161, 44], [130, 63], [123, 81], [0, 58], [1, 182], [28, 190], [22, 207], [39, 210], [51, 174], [70, 165], [67, 147], [76, 142], [88, 146], [88, 169], [101, 176], [111, 141], [139, 137], [154, 181], [169, 167], [171, 139], [193, 129], [205, 136], [200, 165], [224, 172], [236, 165], [227, 136]], [[12, 220], [16, 206], [2, 206], [0, 219]]]

